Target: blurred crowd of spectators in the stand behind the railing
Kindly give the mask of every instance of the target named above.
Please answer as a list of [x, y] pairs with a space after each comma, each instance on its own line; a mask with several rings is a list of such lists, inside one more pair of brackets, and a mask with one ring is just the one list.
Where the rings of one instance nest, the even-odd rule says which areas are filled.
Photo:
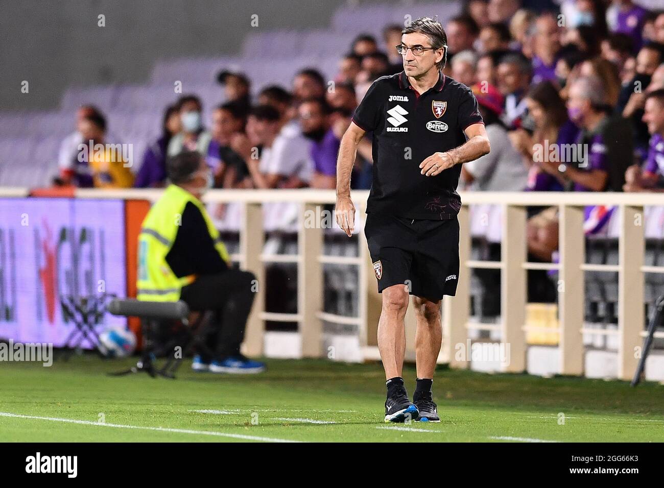
[[[464, 165], [461, 189], [664, 191], [664, 11], [631, 0], [463, 4], [444, 25], [444, 73], [472, 88], [492, 150]], [[77, 131], [62, 143], [58, 182], [161, 187], [165, 159], [196, 150], [216, 188], [332, 189], [339, 141], [359, 100], [376, 78], [402, 70], [401, 30], [388, 25], [380, 39], [357, 36], [333, 80], [307, 68], [291, 86], [260, 87], [252, 98], [251, 80], [220, 72], [226, 102], [212, 120], [203, 120], [195, 95], [167, 107], [163, 133], [135, 177], [104, 157], [80, 161], [80, 141], [116, 141], [104, 116], [83, 107]], [[351, 188], [369, 189], [372, 165], [367, 138]], [[556, 209], [540, 210], [529, 218], [529, 250], [552, 260]]]

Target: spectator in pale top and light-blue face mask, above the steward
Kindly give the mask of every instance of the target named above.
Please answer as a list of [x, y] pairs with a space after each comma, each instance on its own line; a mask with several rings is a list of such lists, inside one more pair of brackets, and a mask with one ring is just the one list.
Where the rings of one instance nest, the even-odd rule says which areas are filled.
[[[185, 95], [178, 100], [177, 108], [180, 114], [181, 131], [169, 142], [167, 154], [177, 156], [183, 151], [197, 151], [207, 157], [212, 135], [203, 127], [201, 100], [197, 96]], [[218, 160], [218, 151], [215, 154], [213, 148], [210, 157], [212, 160], [215, 158]], [[208, 164], [210, 163], [208, 162]], [[214, 164], [216, 161], [212, 161], [211, 165]]]

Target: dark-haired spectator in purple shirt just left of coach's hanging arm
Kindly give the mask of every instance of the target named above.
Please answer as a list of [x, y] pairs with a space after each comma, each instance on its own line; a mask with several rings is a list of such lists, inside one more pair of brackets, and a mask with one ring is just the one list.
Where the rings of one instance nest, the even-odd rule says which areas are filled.
[[[330, 108], [320, 98], [309, 98], [299, 105], [299, 123], [305, 137], [311, 139], [311, 159], [314, 173], [311, 188], [333, 189], [337, 187], [337, 154], [339, 137], [336, 127], [329, 123]], [[343, 122], [343, 121], [340, 121]], [[343, 134], [343, 131], [341, 132]]]

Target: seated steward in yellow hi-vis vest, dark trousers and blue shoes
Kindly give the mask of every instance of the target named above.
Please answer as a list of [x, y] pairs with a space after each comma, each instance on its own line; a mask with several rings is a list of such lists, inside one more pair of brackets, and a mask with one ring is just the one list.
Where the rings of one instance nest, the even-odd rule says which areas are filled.
[[[179, 109], [199, 108], [183, 97]], [[205, 158], [195, 151], [169, 157], [165, 189], [143, 220], [138, 238], [137, 298], [183, 300], [192, 311], [210, 314], [210, 334], [199, 343], [192, 367], [197, 371], [249, 373], [265, 365], [240, 354], [244, 329], [258, 283], [249, 271], [232, 266], [201, 197], [212, 187]]]

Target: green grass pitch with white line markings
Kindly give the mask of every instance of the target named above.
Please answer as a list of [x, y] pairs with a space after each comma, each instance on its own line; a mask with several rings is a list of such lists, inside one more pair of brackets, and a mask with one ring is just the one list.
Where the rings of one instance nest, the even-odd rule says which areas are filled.
[[[108, 376], [134, 359], [0, 364], [0, 442], [662, 442], [664, 386], [439, 368], [440, 424], [385, 424], [378, 363]], [[415, 370], [404, 368], [408, 392]], [[563, 418], [564, 416], [564, 418]], [[102, 424], [103, 422], [103, 424]]]

